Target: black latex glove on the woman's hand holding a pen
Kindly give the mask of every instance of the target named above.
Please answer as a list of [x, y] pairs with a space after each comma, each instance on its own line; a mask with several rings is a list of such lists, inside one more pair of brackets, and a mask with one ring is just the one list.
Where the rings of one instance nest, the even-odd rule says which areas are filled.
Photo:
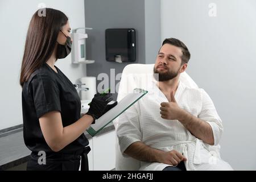
[[117, 101], [115, 101], [113, 104], [108, 104], [113, 100], [111, 96], [111, 93], [105, 94], [103, 96], [100, 93], [94, 95], [92, 102], [90, 102], [90, 108], [86, 113], [93, 117], [92, 124], [95, 123], [96, 119], [100, 118], [103, 114], [117, 105]]

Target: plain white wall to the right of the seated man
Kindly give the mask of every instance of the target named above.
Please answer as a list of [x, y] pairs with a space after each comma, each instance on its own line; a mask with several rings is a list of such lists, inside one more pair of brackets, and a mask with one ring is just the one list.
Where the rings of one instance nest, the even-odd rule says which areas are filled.
[[[208, 5], [216, 3], [217, 16]], [[221, 156], [256, 169], [256, 1], [162, 0], [162, 40], [187, 44], [187, 72], [212, 98], [224, 124]]]

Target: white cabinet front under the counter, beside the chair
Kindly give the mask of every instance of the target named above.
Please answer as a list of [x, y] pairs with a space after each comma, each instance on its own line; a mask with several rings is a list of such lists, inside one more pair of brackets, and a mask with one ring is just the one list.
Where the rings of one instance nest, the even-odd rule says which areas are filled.
[[[92, 138], [93, 170], [112, 170], [115, 168], [115, 131], [109, 131]], [[89, 162], [90, 165], [90, 162]], [[91, 167], [89, 167], [91, 168]], [[90, 169], [91, 170], [91, 169]]]

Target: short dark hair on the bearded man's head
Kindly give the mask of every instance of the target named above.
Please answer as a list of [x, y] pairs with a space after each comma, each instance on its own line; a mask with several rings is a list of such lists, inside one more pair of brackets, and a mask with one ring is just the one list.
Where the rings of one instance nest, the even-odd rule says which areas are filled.
[[181, 65], [184, 63], [188, 63], [190, 59], [190, 52], [188, 51], [187, 46], [183, 42], [175, 38], [168, 38], [163, 41], [162, 46], [164, 44], [171, 44], [173, 46], [180, 47], [182, 50]]

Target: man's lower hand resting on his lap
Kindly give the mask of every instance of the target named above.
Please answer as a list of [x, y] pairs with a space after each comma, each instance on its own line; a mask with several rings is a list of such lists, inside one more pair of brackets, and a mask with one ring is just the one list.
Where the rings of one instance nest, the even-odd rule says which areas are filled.
[[161, 152], [158, 159], [159, 163], [170, 164], [172, 166], [177, 166], [181, 161], [187, 161], [187, 158], [176, 150]]

